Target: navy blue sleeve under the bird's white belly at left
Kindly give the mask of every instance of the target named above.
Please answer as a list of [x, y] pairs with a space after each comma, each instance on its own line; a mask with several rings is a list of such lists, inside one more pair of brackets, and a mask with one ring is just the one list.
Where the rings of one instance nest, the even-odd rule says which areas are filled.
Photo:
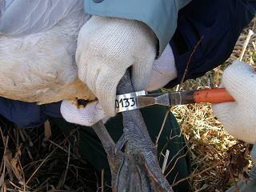
[[61, 102], [38, 106], [33, 102], [19, 102], [0, 97], [0, 114], [21, 128], [41, 126], [47, 116], [61, 118]]

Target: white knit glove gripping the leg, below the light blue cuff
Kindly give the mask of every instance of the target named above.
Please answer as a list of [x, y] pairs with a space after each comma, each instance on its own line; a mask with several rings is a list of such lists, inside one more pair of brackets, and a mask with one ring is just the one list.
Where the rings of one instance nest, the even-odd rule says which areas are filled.
[[123, 18], [93, 16], [78, 34], [78, 77], [114, 116], [118, 82], [132, 66], [134, 90], [145, 90], [150, 79], [157, 38], [146, 24]]

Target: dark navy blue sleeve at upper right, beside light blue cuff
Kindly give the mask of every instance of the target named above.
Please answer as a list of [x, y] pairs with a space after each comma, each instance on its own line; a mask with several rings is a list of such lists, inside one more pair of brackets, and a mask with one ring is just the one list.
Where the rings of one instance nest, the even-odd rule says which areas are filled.
[[181, 82], [190, 54], [202, 37], [185, 79], [198, 78], [225, 62], [255, 10], [256, 2], [250, 0], [193, 0], [180, 10], [178, 27], [170, 41], [178, 78], [166, 87]]

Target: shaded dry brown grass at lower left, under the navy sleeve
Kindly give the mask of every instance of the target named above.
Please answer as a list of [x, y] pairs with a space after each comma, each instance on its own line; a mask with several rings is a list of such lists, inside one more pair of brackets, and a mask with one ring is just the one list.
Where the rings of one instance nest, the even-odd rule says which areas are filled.
[[98, 173], [82, 160], [77, 147], [59, 134], [58, 128], [52, 127], [52, 140], [43, 142], [43, 127], [23, 130], [2, 119], [2, 192], [97, 190]]

